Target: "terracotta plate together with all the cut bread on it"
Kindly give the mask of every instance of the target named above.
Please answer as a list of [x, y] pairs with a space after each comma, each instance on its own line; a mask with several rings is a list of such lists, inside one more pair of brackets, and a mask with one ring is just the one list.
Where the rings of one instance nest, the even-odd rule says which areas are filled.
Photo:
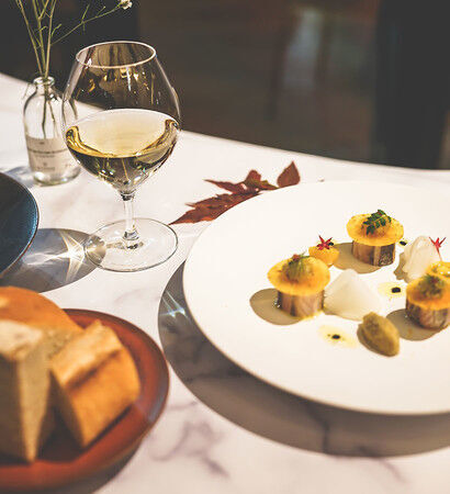
[[[4, 301], [10, 293], [2, 290]], [[60, 486], [114, 464], [155, 424], [168, 392], [165, 359], [140, 329], [93, 311], [56, 314], [49, 301], [41, 306], [44, 316], [33, 315], [36, 301], [9, 318], [0, 308], [3, 336], [20, 339], [12, 348], [2, 338], [1, 383], [15, 372], [21, 389], [18, 400], [0, 402], [0, 490]], [[47, 382], [43, 362], [49, 355]]]

